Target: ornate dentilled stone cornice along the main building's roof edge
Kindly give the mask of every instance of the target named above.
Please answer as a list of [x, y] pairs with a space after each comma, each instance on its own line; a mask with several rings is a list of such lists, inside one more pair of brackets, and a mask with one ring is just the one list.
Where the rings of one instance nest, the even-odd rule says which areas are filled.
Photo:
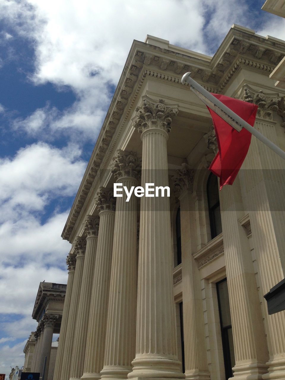
[[[167, 41], [166, 41], [167, 42]], [[187, 49], [168, 49], [133, 41], [125, 67], [103, 122], [86, 172], [62, 232], [63, 239], [72, 242], [86, 213], [103, 171], [122, 133], [125, 122], [146, 78], [170, 81], [181, 86], [181, 76], [187, 71], [208, 91], [219, 93], [242, 65], [269, 75], [284, 55], [285, 42], [258, 36], [247, 28], [234, 26], [214, 57], [193, 53]], [[172, 50], [171, 50], [172, 49]], [[192, 56], [191, 56], [192, 54]], [[187, 84], [186, 84], [187, 86]]]

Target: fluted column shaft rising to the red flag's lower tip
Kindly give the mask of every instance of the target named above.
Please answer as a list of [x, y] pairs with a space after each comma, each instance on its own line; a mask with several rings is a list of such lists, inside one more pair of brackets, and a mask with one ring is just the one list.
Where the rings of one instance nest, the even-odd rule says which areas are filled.
[[[218, 186], [218, 184], [217, 184]], [[238, 222], [242, 213], [239, 181], [220, 192], [223, 244], [233, 329], [234, 379], [261, 380], [268, 353], [248, 238]]]

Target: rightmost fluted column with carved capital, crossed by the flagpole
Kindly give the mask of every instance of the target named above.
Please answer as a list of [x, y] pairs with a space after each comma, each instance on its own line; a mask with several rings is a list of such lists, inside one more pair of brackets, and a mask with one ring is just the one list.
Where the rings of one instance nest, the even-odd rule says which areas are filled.
[[[279, 145], [273, 121], [273, 112], [278, 109], [277, 94], [247, 88], [242, 99], [258, 105], [255, 128]], [[260, 291], [264, 295], [285, 277], [285, 161], [252, 137], [242, 169], [243, 196], [249, 209]], [[268, 315], [263, 299], [263, 313], [269, 369], [262, 378], [285, 378], [285, 312]]]

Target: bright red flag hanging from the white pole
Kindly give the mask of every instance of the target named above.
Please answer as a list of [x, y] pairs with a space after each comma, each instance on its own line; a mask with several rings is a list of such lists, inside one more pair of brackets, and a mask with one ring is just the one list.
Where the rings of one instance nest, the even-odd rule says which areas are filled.
[[[212, 95], [253, 127], [258, 106], [225, 95]], [[238, 132], [212, 109], [209, 107], [208, 109], [213, 119], [218, 142], [218, 153], [209, 166], [209, 170], [220, 177], [221, 190], [223, 185], [233, 184], [249, 150], [251, 133], [245, 128]]]

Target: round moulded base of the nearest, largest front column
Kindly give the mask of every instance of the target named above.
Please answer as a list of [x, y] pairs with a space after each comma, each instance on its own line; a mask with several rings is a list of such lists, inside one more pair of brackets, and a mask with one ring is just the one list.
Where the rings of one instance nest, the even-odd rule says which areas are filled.
[[128, 378], [173, 378], [184, 379], [180, 372], [180, 361], [166, 358], [140, 358], [132, 361], [133, 370]]

